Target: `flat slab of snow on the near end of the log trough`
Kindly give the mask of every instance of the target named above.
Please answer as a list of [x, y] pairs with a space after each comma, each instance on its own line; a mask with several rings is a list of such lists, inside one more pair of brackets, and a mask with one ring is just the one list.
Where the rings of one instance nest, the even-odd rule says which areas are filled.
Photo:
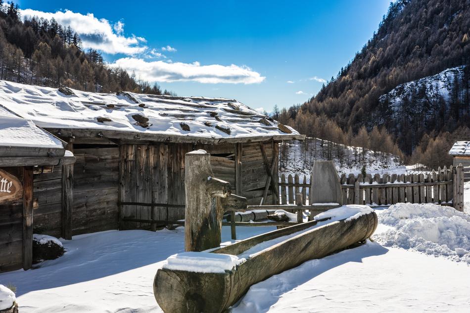
[[170, 256], [162, 268], [199, 273], [225, 273], [246, 261], [229, 254], [210, 252], [183, 252]]

